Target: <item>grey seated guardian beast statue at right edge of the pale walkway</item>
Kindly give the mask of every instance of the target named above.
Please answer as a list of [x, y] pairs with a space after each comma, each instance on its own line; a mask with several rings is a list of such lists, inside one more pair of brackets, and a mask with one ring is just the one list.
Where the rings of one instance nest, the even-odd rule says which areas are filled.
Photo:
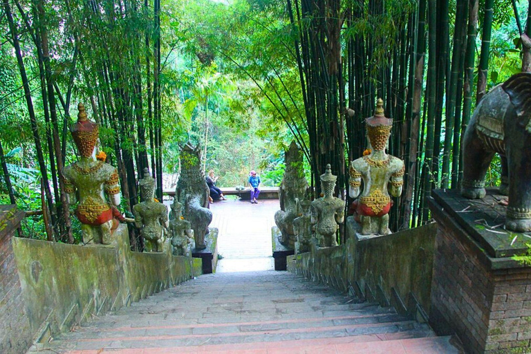
[[296, 200], [304, 198], [308, 182], [304, 178], [302, 151], [295, 141], [291, 142], [290, 149], [284, 155], [286, 172], [279, 188], [280, 210], [274, 213], [274, 222], [279, 227], [281, 236], [280, 243], [294, 248], [295, 231], [293, 220], [299, 215]]

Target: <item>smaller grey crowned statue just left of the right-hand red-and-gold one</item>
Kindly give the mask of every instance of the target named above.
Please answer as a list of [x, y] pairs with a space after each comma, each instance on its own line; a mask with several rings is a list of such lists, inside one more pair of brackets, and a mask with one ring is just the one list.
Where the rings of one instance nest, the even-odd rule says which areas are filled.
[[337, 224], [342, 223], [345, 217], [345, 201], [333, 196], [335, 188], [334, 176], [330, 171], [330, 164], [326, 165], [326, 172], [321, 175], [321, 189], [324, 196], [316, 199], [311, 204], [311, 223], [315, 224], [315, 236], [319, 247], [337, 246], [335, 232]]

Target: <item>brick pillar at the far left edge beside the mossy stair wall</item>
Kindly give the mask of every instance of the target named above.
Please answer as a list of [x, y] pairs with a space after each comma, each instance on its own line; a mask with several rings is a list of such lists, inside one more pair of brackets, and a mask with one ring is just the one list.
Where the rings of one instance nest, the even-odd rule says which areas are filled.
[[0, 232], [0, 353], [24, 353], [31, 334], [11, 244], [17, 225], [3, 225], [8, 227]]

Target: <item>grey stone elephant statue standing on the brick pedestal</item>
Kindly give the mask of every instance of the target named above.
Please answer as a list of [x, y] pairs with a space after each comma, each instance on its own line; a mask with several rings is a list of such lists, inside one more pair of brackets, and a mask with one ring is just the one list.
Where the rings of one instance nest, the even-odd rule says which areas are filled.
[[531, 73], [519, 73], [492, 88], [476, 106], [463, 137], [466, 198], [485, 196], [485, 174], [502, 160], [501, 194], [509, 196], [505, 228], [531, 231]]

